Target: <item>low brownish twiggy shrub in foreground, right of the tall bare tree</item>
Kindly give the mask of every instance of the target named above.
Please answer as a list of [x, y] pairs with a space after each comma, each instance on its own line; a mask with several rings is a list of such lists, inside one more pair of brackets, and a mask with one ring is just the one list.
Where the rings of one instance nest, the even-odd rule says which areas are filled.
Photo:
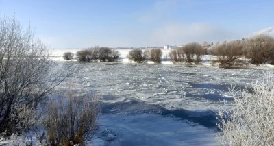
[[97, 132], [99, 102], [95, 96], [52, 99], [43, 119], [49, 145], [85, 145]]

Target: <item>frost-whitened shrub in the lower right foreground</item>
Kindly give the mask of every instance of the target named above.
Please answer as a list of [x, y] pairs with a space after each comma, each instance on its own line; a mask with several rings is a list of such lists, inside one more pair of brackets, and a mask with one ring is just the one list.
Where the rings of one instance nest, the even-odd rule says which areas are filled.
[[236, 92], [231, 89], [234, 104], [229, 110], [220, 110], [221, 145], [274, 145], [274, 80], [273, 73]]

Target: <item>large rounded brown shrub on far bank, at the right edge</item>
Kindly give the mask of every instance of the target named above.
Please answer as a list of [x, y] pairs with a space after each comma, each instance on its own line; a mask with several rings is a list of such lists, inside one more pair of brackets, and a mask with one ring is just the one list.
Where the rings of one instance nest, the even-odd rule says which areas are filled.
[[245, 57], [251, 64], [263, 64], [274, 61], [274, 38], [266, 35], [254, 36], [245, 40]]

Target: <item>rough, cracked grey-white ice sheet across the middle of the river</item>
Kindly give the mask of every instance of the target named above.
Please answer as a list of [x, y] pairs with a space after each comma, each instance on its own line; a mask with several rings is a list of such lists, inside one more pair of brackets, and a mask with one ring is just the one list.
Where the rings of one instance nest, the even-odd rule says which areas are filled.
[[96, 91], [105, 103], [137, 99], [171, 110], [213, 110], [220, 101], [232, 101], [227, 90], [229, 85], [248, 85], [266, 72], [258, 68], [220, 69], [216, 66], [182, 64], [77, 65], [81, 70], [60, 88], [73, 86], [85, 93]]

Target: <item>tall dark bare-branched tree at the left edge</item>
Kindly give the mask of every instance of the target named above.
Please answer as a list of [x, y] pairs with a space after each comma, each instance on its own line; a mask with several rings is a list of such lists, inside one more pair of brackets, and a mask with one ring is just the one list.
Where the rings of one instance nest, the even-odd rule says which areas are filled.
[[[16, 19], [0, 21], [0, 133], [10, 135], [27, 128], [27, 110], [36, 110], [47, 93], [64, 78], [51, 70], [47, 46], [23, 30]], [[22, 108], [25, 107], [25, 108]]]

